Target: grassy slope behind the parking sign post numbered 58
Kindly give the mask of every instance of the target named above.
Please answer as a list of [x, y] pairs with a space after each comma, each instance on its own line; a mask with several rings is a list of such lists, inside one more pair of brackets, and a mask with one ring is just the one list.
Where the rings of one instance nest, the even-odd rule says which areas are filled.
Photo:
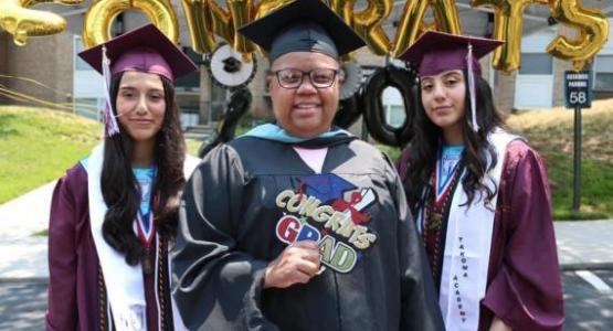
[[547, 161], [556, 220], [613, 218], [613, 99], [594, 102], [582, 116], [581, 212], [572, 212], [574, 111], [557, 108], [511, 115], [509, 127]]

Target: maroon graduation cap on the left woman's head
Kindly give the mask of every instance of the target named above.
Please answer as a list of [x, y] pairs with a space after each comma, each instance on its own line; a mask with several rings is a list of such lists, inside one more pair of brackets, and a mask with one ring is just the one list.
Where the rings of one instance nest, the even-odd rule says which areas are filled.
[[118, 35], [78, 53], [78, 56], [103, 74], [103, 50], [106, 50], [112, 76], [133, 70], [175, 81], [198, 71], [195, 64], [154, 24]]

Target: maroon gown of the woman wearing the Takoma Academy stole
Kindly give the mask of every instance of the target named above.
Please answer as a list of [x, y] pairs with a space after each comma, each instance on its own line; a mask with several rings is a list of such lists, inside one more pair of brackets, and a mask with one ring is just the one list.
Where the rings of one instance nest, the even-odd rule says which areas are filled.
[[[410, 171], [409, 153], [401, 156], [401, 175]], [[561, 330], [563, 293], [549, 180], [539, 154], [521, 140], [506, 150], [492, 236], [478, 330], [488, 330], [494, 317], [512, 330]]]

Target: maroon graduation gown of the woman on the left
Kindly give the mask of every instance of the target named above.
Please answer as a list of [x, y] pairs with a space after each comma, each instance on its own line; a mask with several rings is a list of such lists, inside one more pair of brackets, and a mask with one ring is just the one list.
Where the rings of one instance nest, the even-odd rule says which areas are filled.
[[[156, 234], [157, 235], [157, 234]], [[172, 329], [168, 246], [154, 249], [158, 273], [145, 276], [148, 330]], [[53, 192], [49, 223], [50, 331], [115, 330], [106, 286], [89, 224], [87, 172], [77, 163], [61, 178]], [[160, 307], [160, 308], [158, 308]], [[159, 311], [162, 311], [160, 314]], [[158, 324], [158, 317], [161, 322]]]

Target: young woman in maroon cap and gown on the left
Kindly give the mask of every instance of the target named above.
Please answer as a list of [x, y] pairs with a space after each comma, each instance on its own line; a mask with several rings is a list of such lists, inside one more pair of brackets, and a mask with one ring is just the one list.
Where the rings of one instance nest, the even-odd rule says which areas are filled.
[[46, 330], [183, 329], [168, 258], [189, 175], [173, 79], [195, 66], [154, 25], [80, 56], [108, 78], [110, 108], [104, 142], [53, 193]]

